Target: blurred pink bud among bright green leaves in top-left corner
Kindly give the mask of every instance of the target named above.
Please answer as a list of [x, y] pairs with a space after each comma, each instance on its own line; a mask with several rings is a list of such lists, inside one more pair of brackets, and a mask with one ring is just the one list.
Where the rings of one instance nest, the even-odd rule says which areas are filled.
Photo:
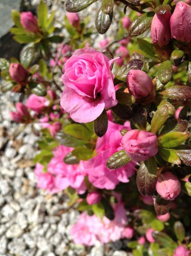
[[39, 31], [37, 17], [31, 11], [21, 13], [21, 24], [29, 32], [37, 33]]

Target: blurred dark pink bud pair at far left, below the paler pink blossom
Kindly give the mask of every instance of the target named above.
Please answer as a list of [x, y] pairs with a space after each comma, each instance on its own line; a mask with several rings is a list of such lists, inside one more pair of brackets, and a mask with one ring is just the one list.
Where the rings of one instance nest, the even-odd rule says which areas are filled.
[[31, 117], [28, 109], [23, 103], [16, 103], [16, 112], [10, 112], [11, 119], [17, 123], [29, 122]]

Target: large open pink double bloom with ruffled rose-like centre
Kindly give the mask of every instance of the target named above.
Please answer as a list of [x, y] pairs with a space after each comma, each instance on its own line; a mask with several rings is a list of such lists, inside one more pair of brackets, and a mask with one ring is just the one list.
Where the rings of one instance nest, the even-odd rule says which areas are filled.
[[91, 122], [117, 104], [109, 60], [93, 48], [78, 49], [63, 66], [60, 104], [76, 122]]

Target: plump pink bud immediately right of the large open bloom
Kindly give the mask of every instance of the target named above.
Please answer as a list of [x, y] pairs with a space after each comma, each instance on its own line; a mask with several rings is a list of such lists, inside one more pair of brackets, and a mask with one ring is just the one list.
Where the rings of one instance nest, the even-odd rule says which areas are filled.
[[152, 80], [142, 70], [131, 69], [129, 71], [127, 76], [127, 87], [129, 92], [138, 100], [149, 97], [147, 98], [148, 104], [155, 98], [155, 93], [152, 93], [154, 89]]

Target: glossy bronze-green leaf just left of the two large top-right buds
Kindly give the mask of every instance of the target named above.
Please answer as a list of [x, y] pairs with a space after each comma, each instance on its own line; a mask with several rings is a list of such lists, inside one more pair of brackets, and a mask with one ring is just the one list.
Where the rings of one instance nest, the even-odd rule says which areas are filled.
[[139, 36], [150, 28], [154, 12], [150, 11], [138, 16], [129, 26], [129, 36]]

